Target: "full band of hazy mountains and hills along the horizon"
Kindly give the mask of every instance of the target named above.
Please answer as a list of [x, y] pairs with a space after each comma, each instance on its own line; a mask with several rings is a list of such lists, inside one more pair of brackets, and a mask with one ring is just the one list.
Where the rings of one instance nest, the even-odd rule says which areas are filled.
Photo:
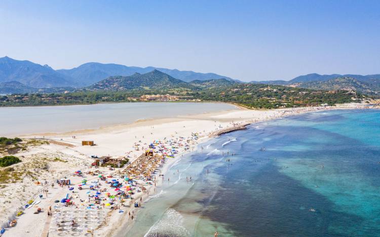
[[[221, 79], [223, 78], [223, 79]], [[191, 82], [191, 83], [186, 83]], [[380, 92], [380, 74], [301, 75], [289, 81], [241, 82], [215, 73], [198, 73], [156, 67], [85, 63], [72, 69], [54, 70], [30, 61], [0, 58], [0, 93], [61, 92], [74, 88], [125, 90], [135, 88], [194, 88], [229, 86], [234, 83], [275, 84], [312, 89], [352, 89]], [[48, 88], [48, 89], [47, 89]]]

